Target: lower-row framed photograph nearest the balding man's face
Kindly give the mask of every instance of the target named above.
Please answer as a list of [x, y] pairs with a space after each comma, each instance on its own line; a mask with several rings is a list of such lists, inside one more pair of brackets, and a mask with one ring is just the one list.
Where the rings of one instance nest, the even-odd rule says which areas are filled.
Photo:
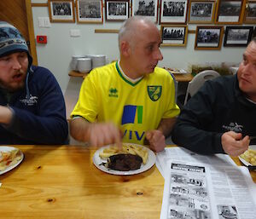
[[186, 46], [188, 26], [161, 26], [161, 46]]

